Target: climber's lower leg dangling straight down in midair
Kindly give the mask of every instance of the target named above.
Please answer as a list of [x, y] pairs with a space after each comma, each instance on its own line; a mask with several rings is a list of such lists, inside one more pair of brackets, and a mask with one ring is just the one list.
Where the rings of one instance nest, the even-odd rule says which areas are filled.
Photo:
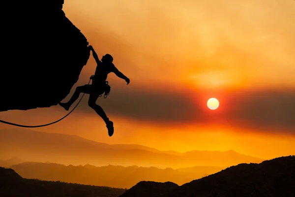
[[104, 112], [101, 106], [96, 104], [96, 100], [98, 99], [99, 94], [97, 93], [90, 93], [88, 105], [92, 109], [95, 110], [95, 112], [104, 120], [106, 123], [106, 126], [108, 128], [109, 136], [112, 136], [114, 134], [114, 123], [109, 120], [107, 114]]

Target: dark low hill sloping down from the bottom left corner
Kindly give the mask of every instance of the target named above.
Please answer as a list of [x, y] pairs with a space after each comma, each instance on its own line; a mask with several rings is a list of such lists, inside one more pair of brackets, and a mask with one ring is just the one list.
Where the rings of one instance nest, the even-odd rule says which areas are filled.
[[90, 185], [25, 179], [0, 167], [0, 197], [118, 197], [125, 190]]

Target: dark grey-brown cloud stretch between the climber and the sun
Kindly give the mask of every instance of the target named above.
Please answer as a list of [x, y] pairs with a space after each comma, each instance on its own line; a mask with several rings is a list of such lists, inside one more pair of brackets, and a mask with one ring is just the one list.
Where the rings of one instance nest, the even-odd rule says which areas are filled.
[[[112, 88], [108, 98], [99, 98], [97, 104], [100, 104], [108, 114], [162, 123], [192, 122], [197, 117], [195, 112], [200, 112], [194, 106], [192, 98], [181, 95], [180, 92], [167, 93], [165, 90], [143, 90], [130, 86]], [[82, 107], [78, 110], [87, 113], [92, 110], [87, 104], [87, 99], [84, 99]]]

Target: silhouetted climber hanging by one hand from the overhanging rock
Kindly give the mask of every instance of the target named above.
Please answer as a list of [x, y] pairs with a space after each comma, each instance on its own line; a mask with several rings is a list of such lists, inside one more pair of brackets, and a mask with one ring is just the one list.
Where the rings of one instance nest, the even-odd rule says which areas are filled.
[[102, 56], [100, 61], [93, 47], [89, 45], [88, 48], [92, 51], [93, 58], [97, 64], [94, 75], [90, 77], [90, 79], [92, 79], [92, 84], [77, 87], [71, 99], [65, 103], [59, 102], [59, 105], [65, 110], [69, 110], [70, 106], [79, 98], [81, 93], [89, 94], [89, 107], [94, 109], [104, 120], [106, 127], [108, 128], [109, 136], [112, 136], [114, 134], [114, 123], [109, 120], [102, 107], [96, 104], [96, 100], [104, 92], [108, 92], [106, 80], [109, 73], [114, 72], [119, 78], [124, 79], [127, 82], [127, 85], [130, 83], [130, 80], [116, 68], [113, 64], [113, 57], [110, 54]]

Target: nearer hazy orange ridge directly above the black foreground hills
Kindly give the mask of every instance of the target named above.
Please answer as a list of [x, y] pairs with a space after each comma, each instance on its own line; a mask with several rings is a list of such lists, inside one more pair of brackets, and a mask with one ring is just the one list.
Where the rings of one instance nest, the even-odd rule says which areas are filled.
[[[131, 188], [140, 181], [174, 182], [182, 185], [191, 180], [202, 178], [224, 168], [196, 166], [191, 168], [159, 169], [156, 167], [133, 166], [101, 166], [93, 165], [62, 165], [52, 163], [26, 162], [12, 165], [24, 178], [36, 178], [46, 181], [63, 181], [86, 185], [108, 186], [115, 188]], [[103, 177], [103, 178], [102, 178]]]

